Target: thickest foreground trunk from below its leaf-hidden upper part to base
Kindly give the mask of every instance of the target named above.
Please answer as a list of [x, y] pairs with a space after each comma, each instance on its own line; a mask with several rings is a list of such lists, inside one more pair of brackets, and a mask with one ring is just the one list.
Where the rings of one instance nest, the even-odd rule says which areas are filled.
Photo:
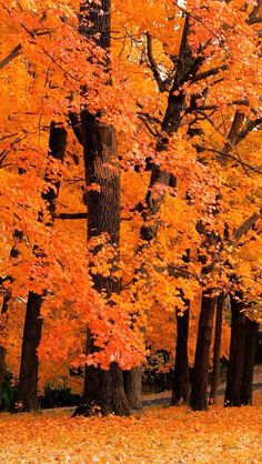
[[[115, 131], [113, 127], [102, 124], [87, 110], [82, 111], [81, 120], [87, 185], [99, 185], [99, 191], [88, 190], [87, 194], [88, 241], [107, 233], [117, 251], [115, 263], [112, 263], [117, 269], [120, 245], [120, 173]], [[113, 169], [108, 168], [108, 164]], [[112, 304], [110, 296], [121, 291], [121, 281], [100, 274], [94, 274], [92, 279], [94, 289], [100, 293], [105, 292], [109, 304]], [[87, 353], [92, 353], [94, 346], [89, 330], [87, 346]], [[84, 406], [79, 406], [75, 415], [92, 414], [97, 407], [103, 415], [130, 414], [123, 389], [123, 375], [118, 364], [112, 363], [109, 371], [85, 366], [82, 402]]]

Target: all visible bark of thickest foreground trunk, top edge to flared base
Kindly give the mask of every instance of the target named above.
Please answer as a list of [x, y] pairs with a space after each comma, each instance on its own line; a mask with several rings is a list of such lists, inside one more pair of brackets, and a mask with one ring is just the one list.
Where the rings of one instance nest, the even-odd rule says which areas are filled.
[[[91, 2], [80, 7], [80, 32], [91, 37], [98, 47], [110, 50], [111, 42], [111, 1], [101, 4]], [[91, 21], [91, 28], [87, 24]], [[109, 58], [108, 58], [109, 60]], [[109, 69], [108, 69], [108, 72]], [[108, 304], [114, 304], [113, 294], [121, 291], [121, 281], [117, 272], [120, 246], [120, 172], [115, 131], [112, 125], [103, 124], [88, 109], [81, 112], [81, 133], [85, 167], [88, 241], [101, 234], [108, 234], [112, 245], [112, 275], [103, 276], [93, 273], [94, 289], [105, 293]], [[95, 191], [98, 189], [98, 191]], [[98, 253], [100, 248], [94, 249]], [[91, 264], [92, 266], [92, 264]], [[92, 273], [92, 268], [91, 268]], [[88, 329], [87, 354], [95, 352], [95, 340]], [[115, 413], [129, 415], [130, 406], [124, 394], [123, 376], [118, 362], [111, 362], [109, 370], [85, 366], [82, 402], [87, 404], [84, 413], [92, 413], [100, 407], [102, 414]], [[77, 413], [81, 410], [77, 410]], [[82, 412], [82, 411], [81, 411]]]

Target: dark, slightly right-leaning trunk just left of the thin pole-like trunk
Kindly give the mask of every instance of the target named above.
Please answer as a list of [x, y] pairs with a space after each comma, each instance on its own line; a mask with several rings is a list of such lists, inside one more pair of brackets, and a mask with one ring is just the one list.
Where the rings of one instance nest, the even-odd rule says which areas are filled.
[[212, 340], [215, 304], [216, 297], [204, 293], [202, 294], [190, 399], [193, 411], [208, 410], [210, 345]]

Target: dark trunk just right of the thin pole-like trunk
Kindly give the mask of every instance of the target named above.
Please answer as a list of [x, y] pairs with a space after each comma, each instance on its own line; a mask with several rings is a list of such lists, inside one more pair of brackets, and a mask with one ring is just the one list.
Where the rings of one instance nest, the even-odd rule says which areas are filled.
[[245, 315], [241, 300], [231, 296], [231, 340], [224, 406], [240, 406], [245, 354]]

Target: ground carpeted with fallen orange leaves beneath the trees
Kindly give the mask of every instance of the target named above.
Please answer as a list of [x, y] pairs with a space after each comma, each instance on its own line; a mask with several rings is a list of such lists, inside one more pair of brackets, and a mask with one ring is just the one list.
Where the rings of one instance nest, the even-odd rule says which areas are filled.
[[140, 417], [0, 415], [0, 462], [262, 463], [262, 394], [253, 407], [148, 408]]

